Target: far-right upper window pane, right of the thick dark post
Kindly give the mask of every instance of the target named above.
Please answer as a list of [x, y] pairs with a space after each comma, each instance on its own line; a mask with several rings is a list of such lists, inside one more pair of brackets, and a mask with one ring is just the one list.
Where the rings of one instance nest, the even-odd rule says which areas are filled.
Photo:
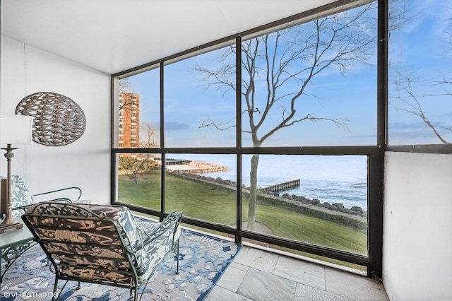
[[451, 143], [452, 6], [389, 4], [389, 144]]

